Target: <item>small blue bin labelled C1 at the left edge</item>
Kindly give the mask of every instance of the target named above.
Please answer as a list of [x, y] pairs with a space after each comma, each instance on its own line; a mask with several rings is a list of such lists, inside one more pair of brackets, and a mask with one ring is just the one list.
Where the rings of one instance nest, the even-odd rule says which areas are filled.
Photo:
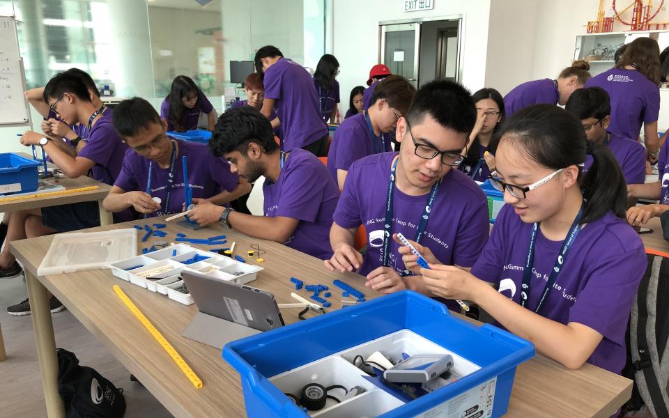
[[0, 154], [0, 194], [30, 193], [38, 188], [40, 162], [13, 153]]

